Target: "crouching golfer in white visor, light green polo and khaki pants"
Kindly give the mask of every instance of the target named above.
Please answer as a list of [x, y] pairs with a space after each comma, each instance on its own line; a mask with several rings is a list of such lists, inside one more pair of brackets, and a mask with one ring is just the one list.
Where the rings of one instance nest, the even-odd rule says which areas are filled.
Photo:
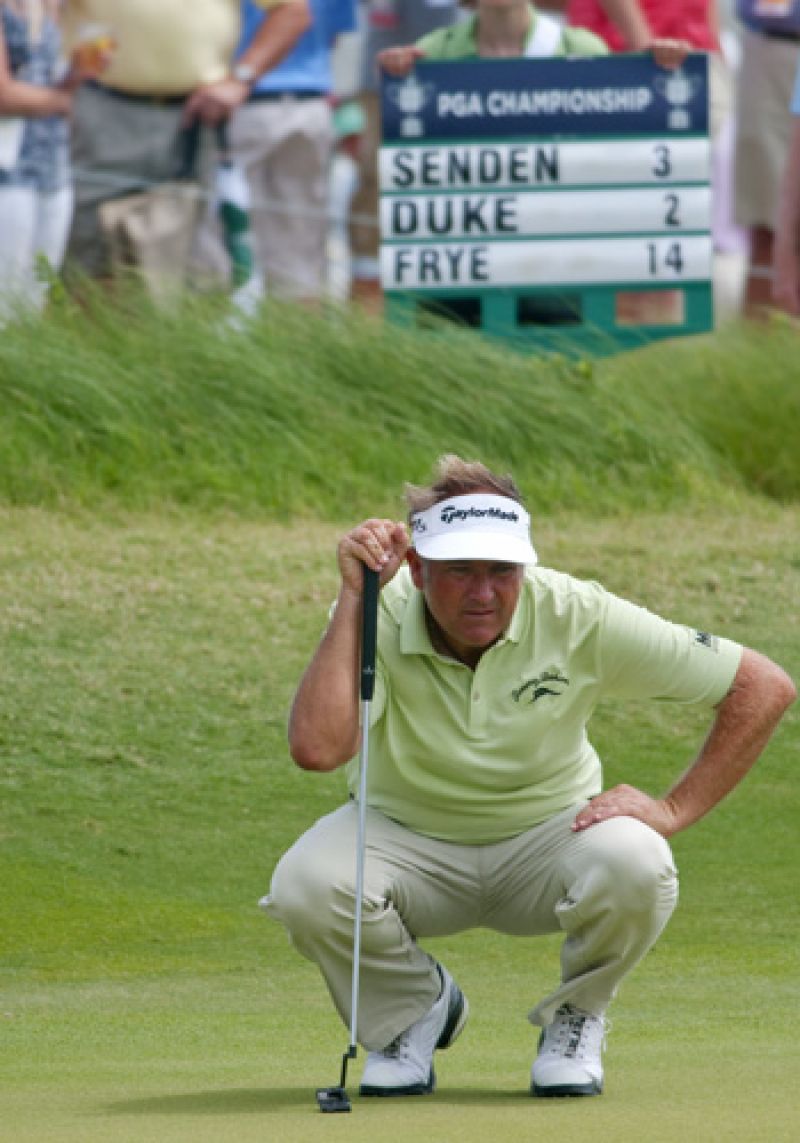
[[[467, 1001], [421, 942], [465, 929], [563, 934], [535, 1005], [530, 1090], [602, 1090], [606, 1010], [678, 896], [667, 839], [744, 777], [795, 697], [758, 652], [666, 622], [597, 583], [537, 565], [510, 477], [442, 457], [403, 523], [338, 545], [341, 590], [301, 680], [291, 754], [335, 770], [359, 750], [363, 565], [379, 573], [370, 709], [359, 1042], [361, 1095], [433, 1090]], [[586, 736], [603, 700], [706, 706], [711, 726], [662, 797], [602, 790]], [[314, 961], [347, 1022], [358, 812], [319, 821], [280, 861], [264, 908]]]

